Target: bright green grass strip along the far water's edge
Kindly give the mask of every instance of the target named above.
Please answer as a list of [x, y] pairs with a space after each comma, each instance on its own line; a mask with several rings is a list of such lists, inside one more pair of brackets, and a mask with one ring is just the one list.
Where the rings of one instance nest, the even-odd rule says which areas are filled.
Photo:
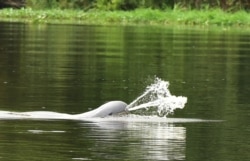
[[202, 25], [250, 27], [250, 13], [209, 10], [88, 11], [82, 10], [0, 10], [0, 21], [27, 23], [96, 24], [96, 25]]

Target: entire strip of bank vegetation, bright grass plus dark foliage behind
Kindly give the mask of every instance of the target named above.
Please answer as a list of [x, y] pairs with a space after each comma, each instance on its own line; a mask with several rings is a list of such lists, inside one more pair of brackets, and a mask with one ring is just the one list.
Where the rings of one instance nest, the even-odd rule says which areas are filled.
[[249, 0], [0, 0], [0, 7], [0, 21], [250, 27]]

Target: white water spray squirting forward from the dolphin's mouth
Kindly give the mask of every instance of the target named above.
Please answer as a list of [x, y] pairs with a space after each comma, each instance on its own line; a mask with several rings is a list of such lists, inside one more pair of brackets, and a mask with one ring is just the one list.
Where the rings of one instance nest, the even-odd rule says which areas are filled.
[[155, 78], [154, 83], [127, 106], [127, 110], [154, 108], [159, 116], [166, 116], [172, 114], [177, 108], [183, 109], [187, 103], [187, 97], [171, 95], [168, 86], [169, 82]]

